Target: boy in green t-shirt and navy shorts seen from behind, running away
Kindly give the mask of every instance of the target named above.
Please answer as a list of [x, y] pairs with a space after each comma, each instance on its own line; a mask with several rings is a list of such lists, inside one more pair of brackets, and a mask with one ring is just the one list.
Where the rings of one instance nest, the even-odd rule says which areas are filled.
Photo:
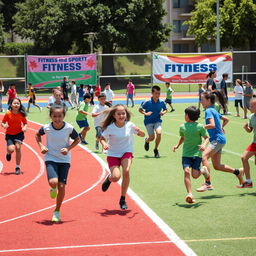
[[[194, 179], [199, 178], [201, 174], [206, 178], [209, 176], [209, 172], [205, 166], [200, 169], [202, 151], [204, 151], [209, 140], [203, 125], [196, 122], [199, 116], [200, 110], [197, 107], [190, 106], [185, 109], [186, 123], [180, 126], [180, 140], [173, 147], [173, 152], [175, 152], [184, 143], [182, 166], [184, 170], [184, 183], [188, 192], [185, 200], [190, 204], [195, 203], [191, 191], [190, 169], [192, 169], [191, 175]], [[204, 138], [204, 143], [202, 143], [202, 137]]]

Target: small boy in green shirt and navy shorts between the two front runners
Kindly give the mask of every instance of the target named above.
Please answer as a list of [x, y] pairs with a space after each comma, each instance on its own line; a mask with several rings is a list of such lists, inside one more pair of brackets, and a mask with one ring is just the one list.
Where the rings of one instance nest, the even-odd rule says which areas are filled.
[[91, 116], [92, 114], [88, 112], [89, 104], [91, 101], [91, 95], [86, 93], [84, 95], [84, 101], [78, 107], [78, 113], [76, 116], [76, 123], [80, 128], [83, 128], [82, 131], [79, 133], [79, 138], [82, 144], [88, 144], [85, 141], [86, 133], [90, 130], [90, 126], [87, 121], [87, 115]]

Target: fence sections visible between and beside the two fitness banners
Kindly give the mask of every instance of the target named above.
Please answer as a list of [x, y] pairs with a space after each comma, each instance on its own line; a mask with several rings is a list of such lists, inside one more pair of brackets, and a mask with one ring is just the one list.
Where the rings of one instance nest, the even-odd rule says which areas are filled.
[[[250, 80], [256, 85], [256, 51], [233, 52], [233, 81]], [[148, 91], [152, 78], [152, 53], [98, 54], [98, 82], [110, 82], [114, 89], [124, 89], [129, 79], [137, 89]], [[0, 80], [8, 86], [15, 83], [22, 92], [25, 88], [25, 56], [0, 56]], [[232, 86], [232, 85], [231, 85]], [[173, 85], [175, 91], [197, 91], [196, 84]]]

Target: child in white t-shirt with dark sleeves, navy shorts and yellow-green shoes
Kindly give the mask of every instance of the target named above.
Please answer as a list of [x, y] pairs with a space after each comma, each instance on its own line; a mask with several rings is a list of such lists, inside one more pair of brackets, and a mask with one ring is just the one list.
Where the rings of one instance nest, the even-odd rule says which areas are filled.
[[[52, 122], [41, 127], [36, 134], [36, 141], [41, 153], [45, 154], [50, 196], [56, 198], [56, 208], [53, 212], [52, 221], [60, 222], [60, 207], [65, 196], [70, 168], [70, 150], [79, 143], [78, 133], [71, 124], [64, 122], [66, 109], [63, 106], [53, 105], [50, 108]], [[42, 143], [42, 136], [46, 134], [46, 146]], [[69, 139], [74, 141], [70, 144]]]

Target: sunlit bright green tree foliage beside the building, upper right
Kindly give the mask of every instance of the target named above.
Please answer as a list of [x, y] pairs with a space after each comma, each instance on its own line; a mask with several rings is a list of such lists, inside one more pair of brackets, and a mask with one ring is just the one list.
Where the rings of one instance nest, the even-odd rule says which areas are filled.
[[[216, 0], [197, 0], [188, 33], [198, 45], [216, 38]], [[222, 47], [255, 46], [256, 1], [220, 0], [220, 36]]]

